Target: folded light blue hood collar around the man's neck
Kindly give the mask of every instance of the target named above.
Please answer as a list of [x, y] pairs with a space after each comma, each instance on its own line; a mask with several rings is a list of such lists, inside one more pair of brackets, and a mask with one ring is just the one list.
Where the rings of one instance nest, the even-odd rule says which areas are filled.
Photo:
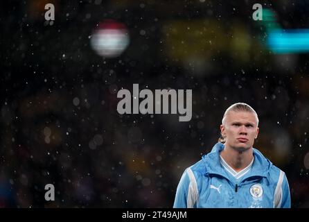
[[[224, 149], [224, 144], [218, 142], [213, 146], [210, 153], [203, 155], [202, 159], [206, 164], [206, 174], [218, 174], [226, 178], [226, 173], [220, 164], [220, 152]], [[253, 148], [254, 162], [251, 167], [251, 171], [245, 175], [242, 180], [249, 177], [266, 177], [272, 162], [268, 160], [263, 154], [256, 148]]]

